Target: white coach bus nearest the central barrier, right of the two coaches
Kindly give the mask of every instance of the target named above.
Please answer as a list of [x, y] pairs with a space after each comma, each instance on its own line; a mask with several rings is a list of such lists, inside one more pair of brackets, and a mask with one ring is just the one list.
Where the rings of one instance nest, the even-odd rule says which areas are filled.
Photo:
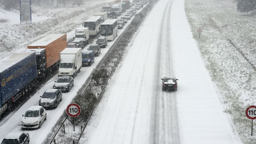
[[100, 36], [105, 36], [107, 40], [114, 40], [117, 36], [117, 19], [105, 20], [100, 25]]

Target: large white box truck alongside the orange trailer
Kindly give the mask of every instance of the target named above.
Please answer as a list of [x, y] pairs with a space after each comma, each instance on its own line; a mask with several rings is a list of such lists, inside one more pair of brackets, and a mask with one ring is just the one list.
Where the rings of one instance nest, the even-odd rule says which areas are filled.
[[58, 76], [75, 77], [82, 67], [82, 48], [65, 48], [60, 52]]

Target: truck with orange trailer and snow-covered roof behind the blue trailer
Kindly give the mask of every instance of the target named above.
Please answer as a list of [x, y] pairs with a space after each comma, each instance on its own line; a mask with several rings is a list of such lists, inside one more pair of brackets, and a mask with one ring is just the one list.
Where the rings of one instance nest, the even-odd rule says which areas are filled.
[[28, 45], [30, 51], [36, 51], [37, 77], [44, 78], [47, 73], [57, 70], [60, 52], [67, 47], [67, 34], [50, 34]]

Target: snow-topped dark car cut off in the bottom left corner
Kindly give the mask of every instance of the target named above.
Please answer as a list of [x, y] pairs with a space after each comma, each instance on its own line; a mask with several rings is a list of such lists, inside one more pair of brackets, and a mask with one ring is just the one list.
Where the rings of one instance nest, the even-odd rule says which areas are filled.
[[25, 132], [11, 132], [8, 133], [1, 144], [29, 144], [30, 137]]

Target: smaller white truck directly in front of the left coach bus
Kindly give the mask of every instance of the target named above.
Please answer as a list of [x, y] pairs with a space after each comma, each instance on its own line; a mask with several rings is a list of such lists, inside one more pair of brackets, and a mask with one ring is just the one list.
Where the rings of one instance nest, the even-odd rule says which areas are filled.
[[83, 41], [84, 45], [89, 39], [89, 28], [76, 28], [74, 40]]

